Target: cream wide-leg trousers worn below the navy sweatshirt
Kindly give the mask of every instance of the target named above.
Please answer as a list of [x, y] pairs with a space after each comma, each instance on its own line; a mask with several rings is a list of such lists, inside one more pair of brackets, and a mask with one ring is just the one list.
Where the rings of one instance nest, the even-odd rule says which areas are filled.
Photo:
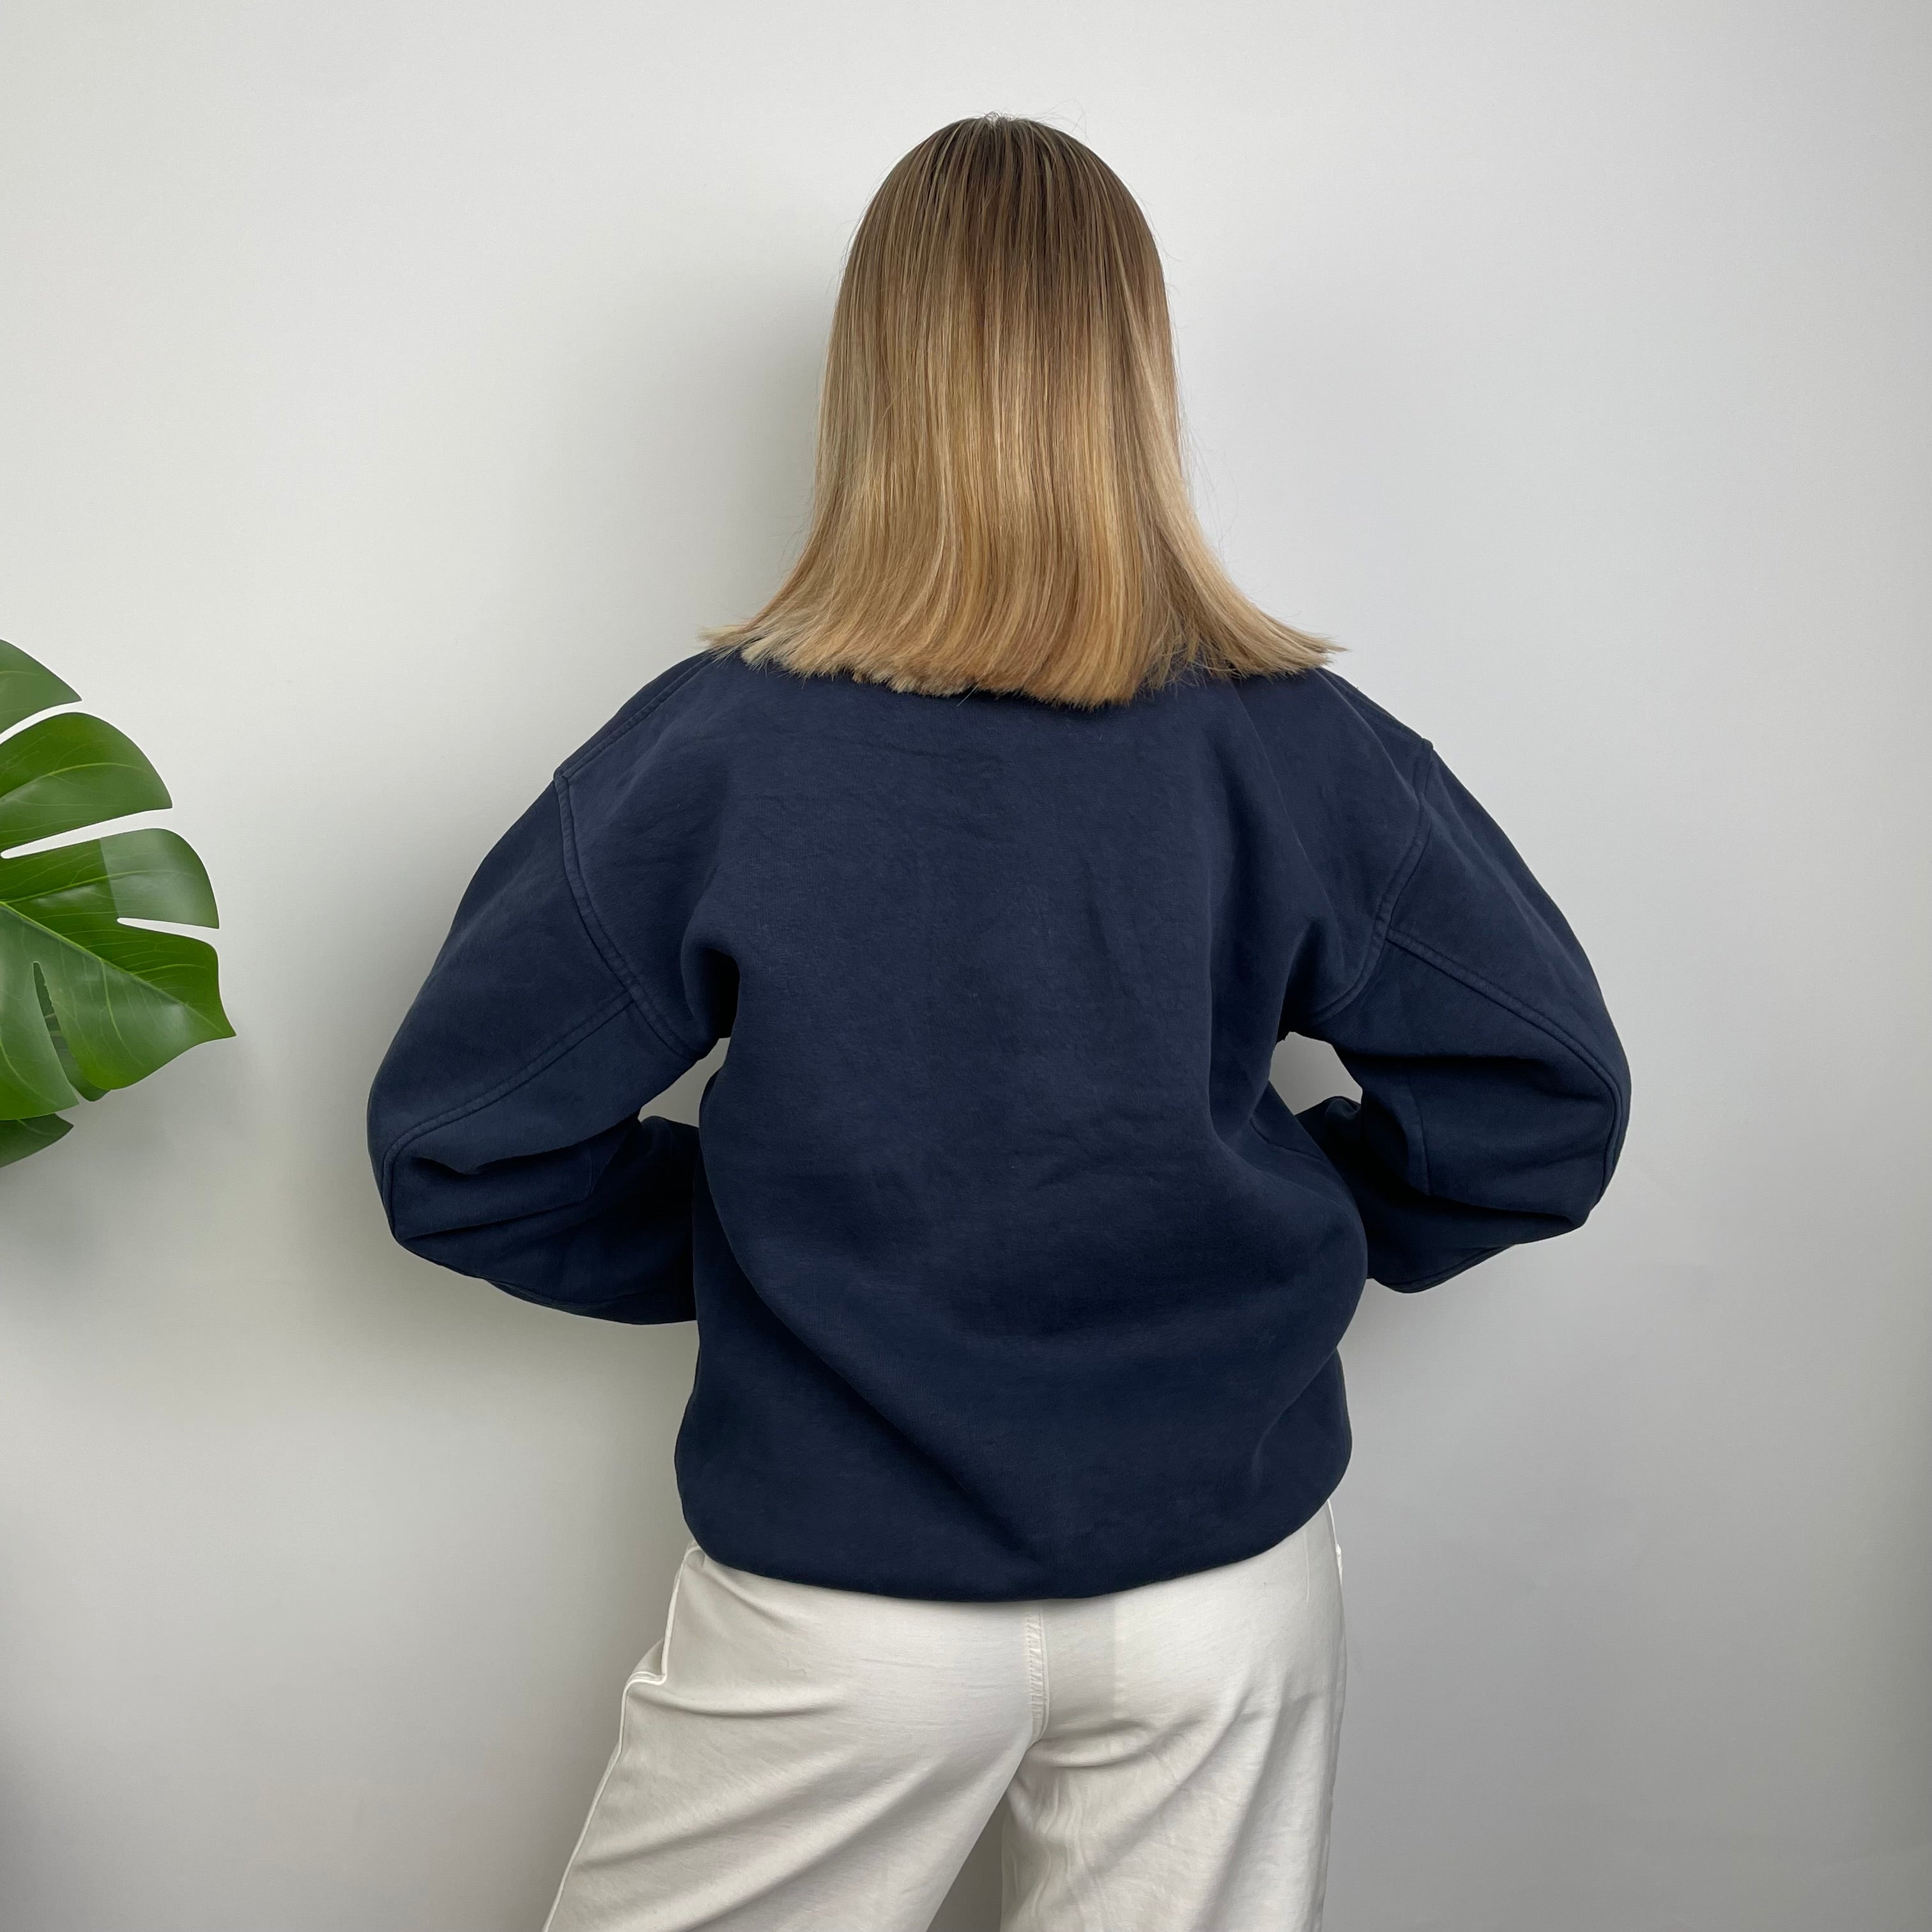
[[684, 1553], [545, 1932], [925, 1932], [1005, 1804], [1001, 1932], [1316, 1932], [1329, 1511], [1111, 1596], [935, 1604]]

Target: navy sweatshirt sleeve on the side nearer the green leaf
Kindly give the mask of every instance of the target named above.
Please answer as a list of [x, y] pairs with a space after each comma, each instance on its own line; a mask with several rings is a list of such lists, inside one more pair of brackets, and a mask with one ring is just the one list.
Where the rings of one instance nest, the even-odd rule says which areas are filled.
[[665, 1037], [618, 980], [545, 792], [471, 881], [369, 1095], [396, 1240], [524, 1300], [690, 1320], [697, 1130], [638, 1115], [709, 1045]]

